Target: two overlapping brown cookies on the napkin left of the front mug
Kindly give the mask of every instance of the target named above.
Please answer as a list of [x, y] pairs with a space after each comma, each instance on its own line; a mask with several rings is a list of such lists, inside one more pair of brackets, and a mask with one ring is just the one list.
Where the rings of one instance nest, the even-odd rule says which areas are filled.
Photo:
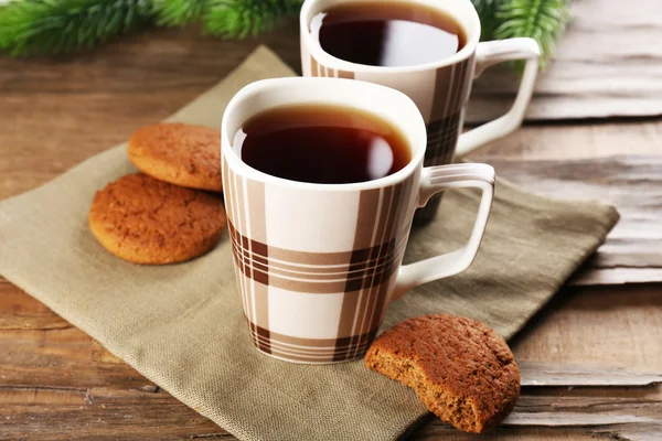
[[131, 136], [128, 155], [141, 173], [106, 185], [89, 209], [89, 229], [104, 248], [134, 263], [166, 265], [216, 246], [225, 227], [221, 132], [147, 126]]

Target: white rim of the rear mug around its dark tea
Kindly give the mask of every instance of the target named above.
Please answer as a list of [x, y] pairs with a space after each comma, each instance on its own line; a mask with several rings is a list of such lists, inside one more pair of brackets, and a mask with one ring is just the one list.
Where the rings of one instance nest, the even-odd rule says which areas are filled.
[[413, 66], [371, 66], [366, 64], [348, 62], [345, 60], [338, 58], [322, 50], [319, 40], [311, 34], [310, 23], [312, 19], [320, 12], [328, 10], [333, 6], [351, 3], [353, 1], [355, 0], [306, 0], [303, 2], [301, 13], [299, 15], [301, 44], [306, 45], [310, 54], [324, 66], [349, 72], [406, 73], [436, 69], [468, 58], [471, 56], [471, 54], [473, 54], [480, 41], [480, 18], [478, 17], [478, 12], [476, 12], [476, 8], [473, 8], [473, 4], [470, 0], [361, 0], [362, 3], [375, 3], [376, 8], [383, 6], [384, 3], [402, 3], [407, 1], [407, 3], [423, 4], [428, 8], [439, 10], [455, 19], [465, 30], [467, 34], [467, 43], [452, 56], [448, 56], [433, 63]]

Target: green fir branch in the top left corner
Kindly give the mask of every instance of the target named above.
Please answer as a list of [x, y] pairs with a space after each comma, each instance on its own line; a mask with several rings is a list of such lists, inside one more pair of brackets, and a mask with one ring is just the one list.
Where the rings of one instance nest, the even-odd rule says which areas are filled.
[[12, 0], [0, 7], [0, 49], [35, 55], [93, 47], [149, 15], [146, 0]]

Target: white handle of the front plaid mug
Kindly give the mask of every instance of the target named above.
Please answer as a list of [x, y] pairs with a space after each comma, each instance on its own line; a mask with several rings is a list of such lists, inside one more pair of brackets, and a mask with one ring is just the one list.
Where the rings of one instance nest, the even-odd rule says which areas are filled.
[[452, 164], [423, 169], [418, 189], [418, 206], [427, 204], [430, 196], [448, 189], [476, 187], [482, 191], [473, 230], [469, 241], [460, 249], [430, 257], [401, 267], [395, 282], [393, 299], [406, 291], [433, 280], [462, 272], [473, 261], [490, 217], [494, 197], [494, 169], [488, 164]]

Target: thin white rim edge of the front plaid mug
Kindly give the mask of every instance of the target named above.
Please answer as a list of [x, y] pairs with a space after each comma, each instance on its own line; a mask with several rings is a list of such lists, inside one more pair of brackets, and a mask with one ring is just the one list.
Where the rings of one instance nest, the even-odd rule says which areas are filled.
[[[328, 86], [324, 86], [323, 85], [324, 83], [331, 83], [331, 84]], [[288, 180], [288, 179], [278, 178], [278, 176], [274, 176], [273, 174], [261, 172], [261, 171], [250, 166], [246, 162], [244, 162], [239, 158], [239, 155], [237, 154], [235, 149], [233, 148], [233, 142], [231, 140], [231, 135], [228, 132], [228, 127], [227, 127], [228, 118], [226, 116], [232, 115], [234, 109], [242, 101], [250, 98], [252, 96], [258, 95], [266, 89], [296, 87], [297, 85], [301, 85], [301, 84], [309, 84], [309, 85], [311, 85], [310, 87], [330, 87], [330, 86], [339, 87], [340, 86], [340, 87], [344, 87], [344, 88], [349, 88], [349, 89], [356, 88], [356, 87], [369, 88], [369, 89], [373, 89], [372, 93], [374, 93], [374, 94], [391, 95], [393, 97], [396, 97], [396, 99], [404, 100], [404, 106], [408, 106], [409, 110], [404, 109], [401, 111], [413, 111], [414, 112], [414, 118], [416, 119], [415, 123], [416, 123], [416, 126], [418, 126], [417, 128], [414, 128], [414, 130], [420, 131], [423, 133], [423, 136], [424, 136], [423, 137], [423, 141], [424, 141], [423, 146], [415, 146], [414, 144], [415, 140], [413, 140], [412, 137], [407, 136], [405, 130], [401, 130], [407, 141], [407, 144], [409, 146], [409, 149], [412, 150], [412, 158], [409, 159], [409, 162], [407, 162], [407, 164], [404, 168], [402, 168], [401, 170], [398, 170], [397, 172], [395, 172], [393, 174], [389, 174], [389, 175], [386, 175], [383, 178], [378, 178], [375, 180], [345, 183], [345, 184], [321, 184], [321, 183], [313, 183], [313, 182], [301, 182], [301, 181]], [[319, 84], [319, 86], [317, 86], [316, 84]], [[319, 103], [323, 104], [324, 101], [320, 100]], [[352, 106], [351, 104], [344, 104], [344, 106], [350, 107], [350, 108], [356, 107], [356, 106]], [[275, 107], [278, 107], [278, 105], [265, 106], [264, 108], [260, 109], [260, 111], [267, 110], [269, 108], [275, 108]], [[362, 109], [362, 110], [365, 111], [365, 109]], [[366, 111], [372, 112], [373, 115], [376, 114], [373, 110], [366, 110]], [[258, 112], [253, 112], [252, 116], [257, 115], [257, 114]], [[378, 114], [376, 114], [376, 115], [378, 116]], [[381, 116], [378, 116], [378, 117], [382, 118]], [[247, 120], [248, 118], [245, 118], [244, 121]], [[391, 125], [395, 125], [396, 127], [398, 127], [398, 129], [399, 129], [399, 127], [403, 126], [399, 122], [395, 122], [392, 119], [388, 119], [387, 122]], [[423, 159], [424, 159], [425, 150], [426, 150], [426, 146], [425, 146], [426, 140], [427, 140], [427, 132], [426, 132], [425, 121], [423, 120], [423, 116], [420, 115], [418, 107], [416, 107], [416, 104], [414, 104], [412, 98], [409, 98], [407, 95], [403, 94], [402, 92], [393, 89], [391, 87], [381, 86], [381, 85], [377, 85], [374, 83], [360, 82], [360, 80], [345, 79], [345, 78], [285, 77], [285, 78], [260, 79], [260, 80], [250, 83], [250, 84], [244, 86], [239, 92], [237, 92], [235, 94], [235, 96], [229, 100], [229, 103], [227, 104], [225, 111], [223, 114], [223, 119], [221, 121], [221, 155], [223, 158], [225, 158], [225, 160], [228, 162], [228, 166], [232, 166], [233, 170], [235, 170], [235, 172], [238, 172], [242, 176], [250, 178], [256, 181], [263, 182], [265, 184], [276, 184], [276, 185], [281, 185], [281, 186], [297, 187], [297, 189], [301, 189], [301, 190], [317, 190], [317, 191], [327, 191], [327, 192], [329, 192], [329, 191], [331, 191], [331, 192], [354, 192], [354, 191], [381, 189], [381, 187], [395, 185], [395, 184], [406, 180], [407, 178], [409, 178], [418, 168], [423, 166]], [[225, 147], [227, 147], [227, 148], [225, 148]]]

